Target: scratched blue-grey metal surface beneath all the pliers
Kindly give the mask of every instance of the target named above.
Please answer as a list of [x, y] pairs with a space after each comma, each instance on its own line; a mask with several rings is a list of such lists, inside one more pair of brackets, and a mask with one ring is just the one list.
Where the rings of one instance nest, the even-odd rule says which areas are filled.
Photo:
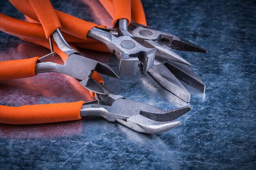
[[[53, 1], [54, 7], [101, 24], [111, 22], [98, 2]], [[207, 85], [190, 88], [192, 110], [182, 125], [145, 135], [101, 118], [13, 126], [0, 124], [0, 169], [256, 169], [256, 2], [143, 0], [148, 26], [208, 49], [179, 52]], [[94, 5], [94, 8], [89, 8]], [[0, 11], [23, 19], [7, 0]], [[0, 33], [0, 61], [43, 56], [49, 51]], [[108, 53], [82, 50], [116, 71]], [[58, 57], [54, 59], [59, 61]], [[104, 77], [112, 93], [170, 109], [187, 105], [148, 75]], [[20, 106], [90, 101], [88, 91], [58, 73], [0, 82], [0, 104]]]

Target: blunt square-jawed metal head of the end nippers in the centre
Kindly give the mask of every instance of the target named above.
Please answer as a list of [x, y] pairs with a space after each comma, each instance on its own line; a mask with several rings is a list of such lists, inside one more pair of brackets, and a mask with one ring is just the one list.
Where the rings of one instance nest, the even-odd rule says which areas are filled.
[[116, 55], [120, 61], [120, 75], [136, 75], [139, 61], [143, 64], [144, 72], [153, 66], [156, 49], [146, 48], [130, 36], [124, 35], [116, 38], [111, 33], [92, 28], [87, 37], [102, 42], [111, 53]]

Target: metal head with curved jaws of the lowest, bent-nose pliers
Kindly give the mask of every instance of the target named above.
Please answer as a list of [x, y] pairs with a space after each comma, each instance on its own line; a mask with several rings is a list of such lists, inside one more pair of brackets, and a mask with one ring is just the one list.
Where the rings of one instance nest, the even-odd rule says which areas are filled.
[[101, 116], [108, 121], [117, 121], [133, 130], [149, 134], [166, 132], [179, 126], [181, 122], [175, 119], [190, 110], [189, 106], [176, 110], [162, 110], [113, 94], [97, 94], [96, 99], [97, 101], [83, 105], [81, 116]]

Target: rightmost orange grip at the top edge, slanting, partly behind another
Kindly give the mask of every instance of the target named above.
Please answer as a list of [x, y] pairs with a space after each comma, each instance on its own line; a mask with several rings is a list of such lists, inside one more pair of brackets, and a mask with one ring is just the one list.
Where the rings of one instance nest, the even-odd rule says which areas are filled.
[[147, 26], [141, 0], [131, 0], [131, 18], [134, 22]]

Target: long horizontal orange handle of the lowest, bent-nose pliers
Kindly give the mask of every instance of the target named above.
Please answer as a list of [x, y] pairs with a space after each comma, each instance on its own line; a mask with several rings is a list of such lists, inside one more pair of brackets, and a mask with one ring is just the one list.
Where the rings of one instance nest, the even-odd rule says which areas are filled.
[[83, 101], [59, 104], [36, 104], [19, 107], [0, 105], [0, 123], [43, 124], [81, 119]]

